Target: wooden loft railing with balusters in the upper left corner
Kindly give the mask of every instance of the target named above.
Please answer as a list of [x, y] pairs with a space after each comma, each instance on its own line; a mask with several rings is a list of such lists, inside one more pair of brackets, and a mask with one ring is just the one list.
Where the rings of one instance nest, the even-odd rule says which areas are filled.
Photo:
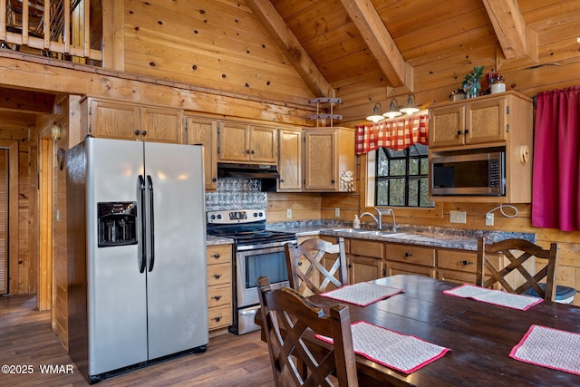
[[[102, 62], [91, 48], [90, 0], [0, 0], [0, 47], [92, 64]], [[95, 26], [93, 26], [95, 27]]]

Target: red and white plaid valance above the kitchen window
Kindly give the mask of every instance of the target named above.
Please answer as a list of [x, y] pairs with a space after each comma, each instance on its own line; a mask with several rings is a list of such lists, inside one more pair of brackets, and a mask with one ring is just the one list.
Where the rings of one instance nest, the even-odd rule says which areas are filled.
[[404, 150], [413, 144], [429, 145], [429, 115], [356, 126], [355, 153], [368, 153], [381, 147]]

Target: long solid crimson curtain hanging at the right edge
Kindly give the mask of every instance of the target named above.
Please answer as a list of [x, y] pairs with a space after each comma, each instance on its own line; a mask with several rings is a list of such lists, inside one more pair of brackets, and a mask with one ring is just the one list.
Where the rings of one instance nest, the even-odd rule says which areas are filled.
[[580, 227], [580, 86], [537, 94], [532, 226]]

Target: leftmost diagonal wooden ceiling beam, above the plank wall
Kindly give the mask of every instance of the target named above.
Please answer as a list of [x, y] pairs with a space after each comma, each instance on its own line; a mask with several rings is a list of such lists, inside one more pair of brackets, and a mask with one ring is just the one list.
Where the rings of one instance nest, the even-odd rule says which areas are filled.
[[316, 97], [333, 97], [334, 90], [330, 83], [320, 73], [304, 47], [298, 42], [295, 34], [275, 10], [274, 5], [269, 0], [247, 0], [246, 4], [266, 28], [268, 34], [274, 38], [275, 43], [280, 46], [314, 95]]

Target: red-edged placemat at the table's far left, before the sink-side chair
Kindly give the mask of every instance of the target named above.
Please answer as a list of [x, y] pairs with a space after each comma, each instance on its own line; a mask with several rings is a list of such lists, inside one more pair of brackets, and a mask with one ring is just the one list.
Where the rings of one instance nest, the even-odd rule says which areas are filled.
[[401, 292], [402, 289], [396, 287], [359, 282], [358, 284], [339, 287], [321, 295], [349, 304], [366, 306], [391, 297], [391, 295], [398, 295]]

